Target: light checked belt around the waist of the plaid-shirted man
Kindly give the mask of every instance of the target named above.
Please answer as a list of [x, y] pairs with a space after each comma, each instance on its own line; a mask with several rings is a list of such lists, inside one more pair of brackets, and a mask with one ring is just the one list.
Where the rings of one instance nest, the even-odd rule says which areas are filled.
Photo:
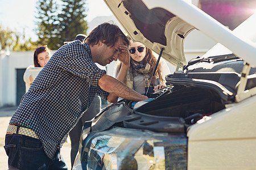
[[33, 130], [28, 129], [28, 128], [23, 128], [20, 126], [9, 125], [6, 132], [9, 134], [13, 134], [13, 133], [22, 134], [22, 135], [26, 135], [28, 137], [39, 139], [38, 135], [36, 135], [36, 133]]

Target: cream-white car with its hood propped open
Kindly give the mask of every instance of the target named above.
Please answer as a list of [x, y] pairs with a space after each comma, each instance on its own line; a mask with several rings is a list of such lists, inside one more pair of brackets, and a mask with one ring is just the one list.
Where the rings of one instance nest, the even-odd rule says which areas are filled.
[[[119, 100], [85, 122], [73, 169], [255, 169], [256, 14], [230, 31], [185, 1], [105, 3], [177, 69], [149, 100]], [[218, 44], [187, 62], [194, 29]]]

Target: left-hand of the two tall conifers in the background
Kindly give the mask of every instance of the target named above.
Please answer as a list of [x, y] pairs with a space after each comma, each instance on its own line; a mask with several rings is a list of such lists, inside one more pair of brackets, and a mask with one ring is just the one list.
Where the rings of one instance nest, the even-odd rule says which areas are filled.
[[38, 28], [38, 44], [48, 45], [50, 49], [58, 49], [61, 45], [60, 22], [57, 18], [58, 1], [56, 0], [39, 0], [36, 5], [38, 15], [36, 23]]

